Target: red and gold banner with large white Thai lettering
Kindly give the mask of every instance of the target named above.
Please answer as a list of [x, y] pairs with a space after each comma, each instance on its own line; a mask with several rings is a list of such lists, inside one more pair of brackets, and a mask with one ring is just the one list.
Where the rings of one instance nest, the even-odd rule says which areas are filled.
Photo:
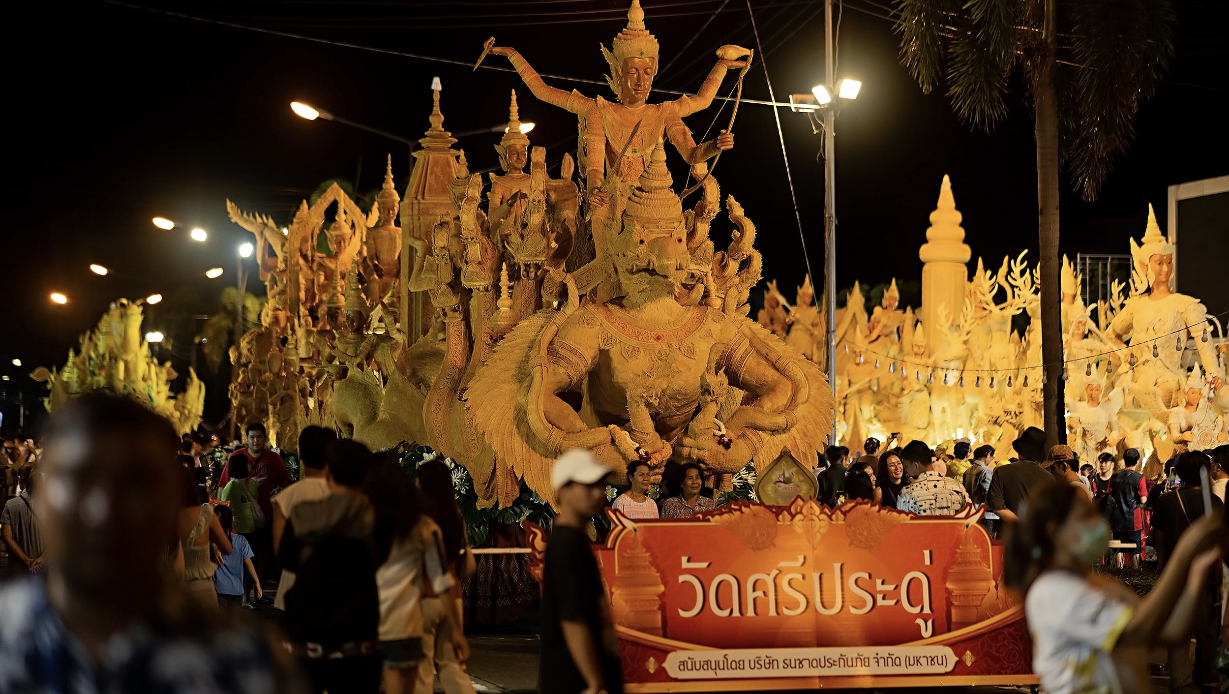
[[977, 522], [869, 502], [632, 521], [595, 553], [628, 692], [1036, 684]]

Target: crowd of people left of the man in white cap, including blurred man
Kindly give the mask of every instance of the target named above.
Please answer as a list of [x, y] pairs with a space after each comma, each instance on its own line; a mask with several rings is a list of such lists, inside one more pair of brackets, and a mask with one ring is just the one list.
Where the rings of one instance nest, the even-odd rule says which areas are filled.
[[[0, 692], [472, 694], [474, 561], [442, 461], [310, 426], [291, 482], [264, 426], [214, 480], [199, 441], [91, 393], [53, 415], [0, 522]], [[275, 623], [245, 607], [275, 590]]]

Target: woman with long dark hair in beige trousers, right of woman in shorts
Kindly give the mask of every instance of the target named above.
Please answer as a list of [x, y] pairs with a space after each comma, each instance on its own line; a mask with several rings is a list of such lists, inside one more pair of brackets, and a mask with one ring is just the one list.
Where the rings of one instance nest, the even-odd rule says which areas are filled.
[[[452, 649], [452, 635], [461, 626], [461, 579], [469, 577], [474, 571], [465, 521], [452, 489], [452, 472], [439, 458], [428, 461], [418, 468], [418, 486], [425, 496], [426, 513], [440, 527], [445, 569], [454, 583], [447, 595], [423, 598], [423, 652], [426, 657], [418, 666], [415, 690], [434, 690], [435, 676], [439, 674], [446, 694], [473, 694], [473, 682], [466, 674], [465, 665], [457, 662]], [[457, 615], [455, 625], [447, 618], [450, 612]]]

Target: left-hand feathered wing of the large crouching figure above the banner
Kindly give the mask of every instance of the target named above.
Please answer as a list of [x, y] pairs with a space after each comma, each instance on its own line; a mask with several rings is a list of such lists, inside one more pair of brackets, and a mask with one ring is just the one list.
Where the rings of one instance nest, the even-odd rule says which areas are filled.
[[[547, 327], [554, 311], [540, 311], [522, 319], [495, 348], [485, 366], [478, 370], [466, 389], [469, 424], [476, 426], [495, 452], [495, 466], [521, 478], [543, 499], [552, 499], [551, 467], [553, 461], [533, 450], [533, 436], [525, 416], [525, 383], [528, 362], [537, 338]], [[497, 475], [499, 474], [497, 469]], [[505, 488], [509, 485], [498, 485]], [[493, 490], [494, 491], [494, 490]], [[503, 496], [503, 494], [501, 494]], [[515, 494], [514, 494], [515, 499]], [[508, 500], [501, 505], [510, 505]]]

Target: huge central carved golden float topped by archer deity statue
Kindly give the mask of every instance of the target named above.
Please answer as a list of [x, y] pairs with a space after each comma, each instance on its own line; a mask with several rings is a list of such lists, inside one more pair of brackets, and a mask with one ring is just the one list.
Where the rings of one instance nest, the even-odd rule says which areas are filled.
[[[320, 424], [376, 448], [429, 445], [469, 469], [484, 505], [511, 504], [521, 482], [552, 497], [553, 458], [574, 447], [617, 470], [697, 461], [719, 485], [783, 452], [815, 459], [831, 389], [747, 318], [761, 257], [734, 197], [730, 246], [709, 238], [723, 200], [705, 160], [732, 135], [696, 145], [681, 120], [748, 52], [723, 47], [699, 95], [649, 104], [659, 49], [639, 2], [603, 49], [618, 103], [551, 88], [515, 50], [485, 48], [580, 117], [578, 161], [547, 174], [512, 92], [503, 173], [469, 174], [436, 88], [404, 198], [390, 166], [370, 215], [337, 187], [286, 235], [231, 205], [270, 297], [238, 349], [235, 407], [281, 441]], [[693, 209], [672, 189], [667, 139], [702, 179]]]

